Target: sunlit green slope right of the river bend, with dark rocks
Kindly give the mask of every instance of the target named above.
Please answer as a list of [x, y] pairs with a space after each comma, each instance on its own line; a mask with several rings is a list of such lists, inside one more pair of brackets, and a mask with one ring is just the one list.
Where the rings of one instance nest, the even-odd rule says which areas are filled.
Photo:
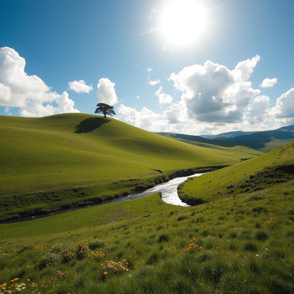
[[[251, 177], [250, 177], [251, 176]], [[258, 158], [242, 161], [178, 186], [180, 198], [187, 203], [203, 203], [252, 192], [294, 177], [294, 143], [288, 143]]]

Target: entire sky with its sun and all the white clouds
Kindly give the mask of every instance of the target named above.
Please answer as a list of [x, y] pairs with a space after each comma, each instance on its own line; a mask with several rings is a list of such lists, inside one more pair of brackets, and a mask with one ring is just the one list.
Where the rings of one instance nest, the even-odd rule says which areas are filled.
[[148, 131], [294, 124], [294, 1], [1, 1], [0, 115], [94, 114]]

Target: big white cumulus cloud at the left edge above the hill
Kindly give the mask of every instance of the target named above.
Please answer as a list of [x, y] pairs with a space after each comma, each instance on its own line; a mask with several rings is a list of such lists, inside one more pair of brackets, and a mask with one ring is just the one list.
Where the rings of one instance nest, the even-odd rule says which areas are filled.
[[[25, 59], [14, 49], [0, 48], [0, 106], [19, 107], [21, 116], [79, 112], [66, 92], [52, 92], [41, 78], [27, 75], [25, 65]], [[58, 106], [50, 104], [54, 102]]]

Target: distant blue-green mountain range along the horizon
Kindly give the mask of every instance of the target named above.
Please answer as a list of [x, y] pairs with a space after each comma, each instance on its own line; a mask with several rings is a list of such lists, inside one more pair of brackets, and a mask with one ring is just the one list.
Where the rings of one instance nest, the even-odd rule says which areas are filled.
[[159, 135], [206, 148], [224, 149], [246, 146], [255, 150], [268, 152], [288, 142], [294, 141], [294, 125], [276, 130], [260, 132], [234, 131], [218, 135], [191, 136], [175, 133], [158, 133]]

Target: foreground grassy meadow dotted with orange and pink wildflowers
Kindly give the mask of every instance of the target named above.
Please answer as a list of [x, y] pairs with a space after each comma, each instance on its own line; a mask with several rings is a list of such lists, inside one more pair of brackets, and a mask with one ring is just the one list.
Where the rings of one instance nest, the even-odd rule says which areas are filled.
[[293, 188], [185, 208], [155, 193], [1, 225], [1, 291], [294, 293]]

